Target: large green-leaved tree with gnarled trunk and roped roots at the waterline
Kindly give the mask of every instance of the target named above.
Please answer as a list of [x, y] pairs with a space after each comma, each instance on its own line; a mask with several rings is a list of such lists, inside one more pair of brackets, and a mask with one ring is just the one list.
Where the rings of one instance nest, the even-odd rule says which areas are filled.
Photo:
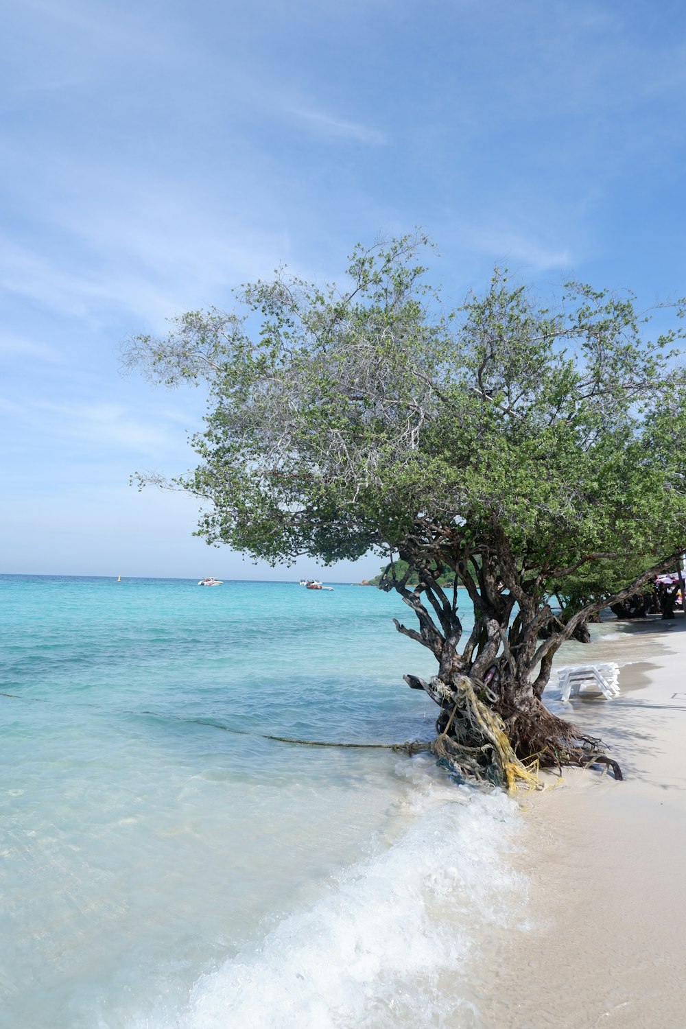
[[[651, 341], [631, 295], [576, 282], [541, 307], [500, 270], [446, 312], [426, 244], [358, 247], [341, 290], [282, 270], [242, 287], [240, 313], [130, 341], [129, 366], [209, 387], [195, 470], [140, 483], [202, 498], [201, 536], [273, 564], [383, 555], [381, 589], [416, 618], [396, 629], [436, 659], [429, 682], [405, 678], [440, 705], [453, 769], [512, 785], [536, 760], [609, 761], [541, 696], [559, 645], [686, 546], [683, 330]], [[609, 595], [572, 589], [612, 563], [629, 578]]]

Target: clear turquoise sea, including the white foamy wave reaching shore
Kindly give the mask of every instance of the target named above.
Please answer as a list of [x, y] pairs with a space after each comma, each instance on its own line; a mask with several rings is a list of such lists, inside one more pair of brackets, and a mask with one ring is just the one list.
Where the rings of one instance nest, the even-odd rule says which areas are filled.
[[513, 805], [424, 756], [263, 738], [429, 737], [405, 612], [0, 576], [3, 1027], [479, 1024], [465, 969], [518, 902]]

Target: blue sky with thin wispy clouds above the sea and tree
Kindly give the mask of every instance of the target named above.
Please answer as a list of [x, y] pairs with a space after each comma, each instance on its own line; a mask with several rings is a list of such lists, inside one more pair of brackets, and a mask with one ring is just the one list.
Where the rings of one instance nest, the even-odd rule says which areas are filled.
[[203, 403], [122, 379], [119, 342], [280, 262], [335, 278], [422, 224], [456, 303], [496, 260], [686, 293], [676, 0], [21, 0], [0, 45], [0, 571], [315, 571], [128, 485], [188, 466]]

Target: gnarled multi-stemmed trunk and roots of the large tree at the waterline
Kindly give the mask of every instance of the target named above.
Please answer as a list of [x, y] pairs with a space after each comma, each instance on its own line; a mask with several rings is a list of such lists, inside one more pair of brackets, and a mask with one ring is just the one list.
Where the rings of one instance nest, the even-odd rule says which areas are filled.
[[[549, 711], [542, 695], [559, 646], [572, 638], [587, 642], [587, 624], [606, 604], [623, 616], [645, 613], [650, 597], [645, 591], [673, 558], [664, 558], [611, 597], [558, 617], [543, 593], [543, 577], [533, 579], [515, 561], [502, 533], [496, 535], [494, 546], [479, 552], [478, 561], [454, 556], [448, 562], [474, 609], [466, 644], [458, 591], [452, 591], [450, 601], [438, 584], [445, 559], [427, 562], [401, 552], [407, 567], [403, 577], [397, 578], [390, 564], [380, 579], [380, 588], [396, 590], [419, 620], [419, 629], [409, 629], [394, 619], [398, 632], [430, 649], [438, 664], [438, 674], [428, 682], [405, 676], [408, 685], [426, 690], [440, 708], [431, 749], [456, 775], [508, 789], [518, 780], [540, 785], [539, 767], [603, 764], [621, 778], [602, 740], [580, 733]], [[430, 542], [434, 553], [440, 553], [438, 543]], [[417, 545], [429, 542], [420, 540]], [[419, 583], [410, 590], [412, 568], [419, 572]]]

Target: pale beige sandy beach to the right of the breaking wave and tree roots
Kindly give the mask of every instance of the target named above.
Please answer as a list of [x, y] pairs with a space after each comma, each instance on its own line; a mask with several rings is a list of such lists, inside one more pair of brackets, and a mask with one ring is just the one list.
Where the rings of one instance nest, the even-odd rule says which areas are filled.
[[501, 955], [489, 1029], [686, 1027], [686, 626], [603, 628], [562, 663], [631, 662], [621, 696], [549, 703], [605, 740], [624, 781], [567, 770], [532, 799], [531, 924]]

